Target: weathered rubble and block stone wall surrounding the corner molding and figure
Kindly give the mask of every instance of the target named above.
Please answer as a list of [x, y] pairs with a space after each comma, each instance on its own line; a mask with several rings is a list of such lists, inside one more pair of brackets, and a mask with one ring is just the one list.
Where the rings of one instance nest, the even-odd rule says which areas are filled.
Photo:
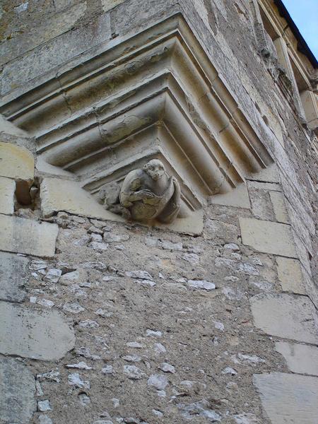
[[1, 118], [0, 423], [315, 424], [317, 154], [259, 53], [253, 2], [1, 8], [3, 102], [181, 13], [273, 164], [246, 178], [245, 207], [205, 206], [196, 236], [109, 220], [86, 198], [66, 212], [47, 197], [45, 214], [52, 175]]

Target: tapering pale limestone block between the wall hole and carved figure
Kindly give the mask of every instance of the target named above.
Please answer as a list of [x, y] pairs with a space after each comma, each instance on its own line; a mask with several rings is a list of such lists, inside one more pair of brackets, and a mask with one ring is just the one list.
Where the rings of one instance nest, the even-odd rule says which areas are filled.
[[74, 215], [124, 222], [121, 216], [106, 211], [75, 181], [45, 178], [41, 184], [40, 197], [42, 214], [45, 217], [66, 211]]

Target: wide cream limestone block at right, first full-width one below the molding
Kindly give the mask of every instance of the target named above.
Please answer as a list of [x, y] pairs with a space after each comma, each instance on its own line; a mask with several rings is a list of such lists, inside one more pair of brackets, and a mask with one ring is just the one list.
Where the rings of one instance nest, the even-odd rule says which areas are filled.
[[266, 220], [240, 218], [242, 242], [259, 252], [297, 257], [289, 225]]

